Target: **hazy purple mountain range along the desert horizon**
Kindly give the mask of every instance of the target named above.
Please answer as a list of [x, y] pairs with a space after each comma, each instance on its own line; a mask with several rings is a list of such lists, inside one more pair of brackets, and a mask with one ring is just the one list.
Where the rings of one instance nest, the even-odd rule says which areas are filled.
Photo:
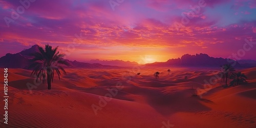
[[[38, 45], [34, 45], [29, 49], [23, 50], [19, 53], [10, 54], [7, 53], [5, 56], [0, 58], [0, 67], [3, 68], [22, 68], [28, 69], [31, 65], [30, 59], [32, 59], [31, 53], [38, 51]], [[73, 68], [120, 68], [120, 67], [131, 67], [138, 66], [137, 62], [123, 61], [123, 60], [99, 60], [93, 59], [90, 62], [79, 62], [71, 61], [66, 59], [71, 63]], [[230, 62], [230, 60], [229, 60]], [[146, 63], [145, 66], [158, 66], [158, 67], [169, 67], [169, 66], [179, 66], [179, 67], [220, 67], [226, 63], [229, 63], [227, 58], [215, 58], [210, 57], [207, 54], [196, 54], [189, 55], [185, 54], [181, 58], [169, 59], [166, 62], [154, 62]], [[255, 60], [232, 60], [231, 63], [236, 62], [234, 67], [249, 68], [256, 67]]]

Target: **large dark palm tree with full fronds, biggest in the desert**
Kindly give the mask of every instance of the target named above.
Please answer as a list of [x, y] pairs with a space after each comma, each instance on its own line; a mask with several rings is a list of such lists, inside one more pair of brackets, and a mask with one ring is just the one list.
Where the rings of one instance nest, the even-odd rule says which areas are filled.
[[65, 56], [65, 54], [59, 54], [57, 49], [58, 47], [53, 49], [52, 46], [46, 45], [45, 50], [42, 47], [38, 47], [39, 52], [32, 54], [33, 59], [31, 59], [31, 61], [33, 63], [30, 65], [30, 68], [33, 68], [33, 72], [31, 75], [35, 74], [36, 81], [38, 81], [38, 78], [40, 78], [40, 82], [42, 80], [43, 83], [45, 83], [47, 76], [48, 90], [51, 90], [51, 82], [53, 82], [54, 70], [59, 77], [59, 69], [62, 70], [64, 74], [66, 74], [66, 71], [62, 66], [70, 66], [70, 63], [62, 58]]

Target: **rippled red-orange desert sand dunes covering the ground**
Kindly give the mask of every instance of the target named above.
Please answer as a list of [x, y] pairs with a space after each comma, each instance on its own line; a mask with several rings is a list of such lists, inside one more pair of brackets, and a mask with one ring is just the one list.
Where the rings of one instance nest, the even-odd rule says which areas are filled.
[[[47, 90], [47, 83], [34, 83], [31, 71], [9, 69], [8, 127], [256, 127], [256, 68], [238, 70], [248, 77], [246, 85], [223, 88], [218, 79], [207, 89], [204, 80], [219, 69], [170, 70], [66, 69]], [[29, 90], [28, 83], [36, 87]], [[104, 97], [111, 88], [119, 88], [117, 94]], [[193, 96], [196, 89], [202, 95]], [[101, 99], [108, 101], [96, 115], [92, 105]]]

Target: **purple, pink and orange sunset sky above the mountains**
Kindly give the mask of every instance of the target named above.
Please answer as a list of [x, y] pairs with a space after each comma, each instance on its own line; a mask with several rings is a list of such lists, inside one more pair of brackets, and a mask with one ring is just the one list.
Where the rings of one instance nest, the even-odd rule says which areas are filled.
[[49, 44], [77, 61], [256, 60], [254, 0], [0, 0], [0, 30], [0, 56]]

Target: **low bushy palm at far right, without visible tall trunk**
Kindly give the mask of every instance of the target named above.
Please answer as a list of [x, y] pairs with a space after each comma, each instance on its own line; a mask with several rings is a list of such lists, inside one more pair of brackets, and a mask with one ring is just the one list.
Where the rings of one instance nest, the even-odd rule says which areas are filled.
[[230, 82], [230, 86], [235, 86], [235, 85], [239, 85], [243, 82], [247, 82], [246, 79], [247, 77], [241, 73], [241, 72], [238, 72], [236, 74], [233, 74], [230, 79], [233, 79], [231, 82]]

